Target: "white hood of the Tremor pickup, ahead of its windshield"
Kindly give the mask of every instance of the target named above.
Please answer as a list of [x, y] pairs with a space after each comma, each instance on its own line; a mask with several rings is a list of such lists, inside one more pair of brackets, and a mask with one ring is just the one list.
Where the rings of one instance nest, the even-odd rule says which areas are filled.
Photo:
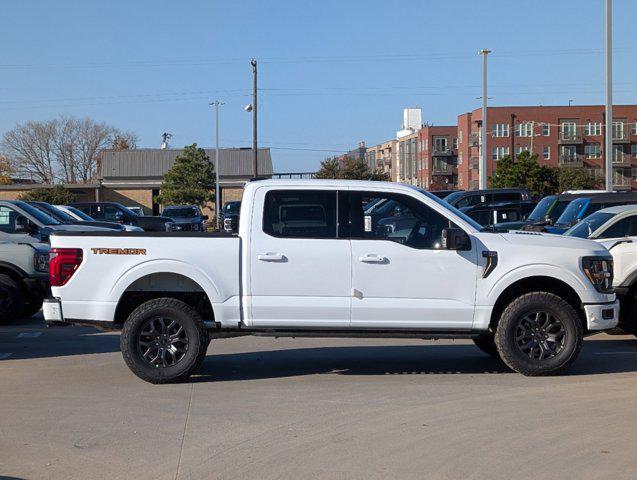
[[[605, 246], [593, 240], [577, 237], [565, 237], [563, 235], [552, 235], [550, 233], [527, 232], [527, 231], [511, 231], [508, 233], [486, 233], [480, 232], [476, 237], [481, 240], [487, 247], [497, 250], [497, 244], [503, 244], [509, 247], [527, 247], [529, 250], [535, 250], [542, 253], [541, 249], [563, 249], [568, 254], [579, 253], [581, 255], [604, 255], [610, 253]], [[538, 250], [539, 249], [539, 250]], [[525, 248], [526, 250], [526, 248]]]

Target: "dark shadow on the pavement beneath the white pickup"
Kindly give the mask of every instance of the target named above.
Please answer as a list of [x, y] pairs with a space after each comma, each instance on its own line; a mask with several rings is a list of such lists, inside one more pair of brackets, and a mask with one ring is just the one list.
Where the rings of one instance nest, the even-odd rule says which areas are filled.
[[[214, 342], [213, 342], [214, 345]], [[194, 382], [256, 380], [300, 375], [449, 375], [513, 373], [473, 345], [352, 346], [212, 354]], [[565, 373], [600, 375], [637, 371], [637, 340], [586, 342]]]

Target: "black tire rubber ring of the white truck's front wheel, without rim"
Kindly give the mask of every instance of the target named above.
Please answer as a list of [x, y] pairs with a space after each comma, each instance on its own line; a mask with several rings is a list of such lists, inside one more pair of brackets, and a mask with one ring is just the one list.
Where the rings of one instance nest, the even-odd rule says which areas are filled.
[[[557, 317], [564, 327], [563, 348], [553, 358], [531, 359], [515, 342], [515, 332], [525, 315], [545, 311]], [[512, 370], [526, 376], [557, 375], [577, 358], [583, 343], [583, 328], [572, 305], [548, 292], [531, 292], [513, 300], [502, 312], [495, 332], [495, 345], [500, 358]]]

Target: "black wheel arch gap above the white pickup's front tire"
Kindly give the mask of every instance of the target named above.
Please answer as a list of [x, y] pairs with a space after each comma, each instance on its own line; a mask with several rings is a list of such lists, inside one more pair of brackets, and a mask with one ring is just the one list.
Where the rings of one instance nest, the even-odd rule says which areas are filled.
[[516, 280], [500, 292], [491, 310], [489, 330], [492, 332], [495, 331], [498, 321], [500, 320], [500, 315], [514, 298], [530, 292], [553, 293], [564, 299], [578, 313], [582, 326], [586, 329], [586, 314], [584, 312], [582, 299], [577, 291], [559, 278], [536, 275]]

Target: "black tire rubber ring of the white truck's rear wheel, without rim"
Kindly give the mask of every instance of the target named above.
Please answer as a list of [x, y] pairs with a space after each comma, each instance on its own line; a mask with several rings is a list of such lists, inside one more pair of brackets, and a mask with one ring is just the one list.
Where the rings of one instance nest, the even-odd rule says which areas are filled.
[[[183, 326], [188, 348], [175, 365], [153, 367], [142, 358], [138, 346], [142, 328], [154, 317], [177, 320]], [[208, 332], [201, 316], [192, 307], [174, 298], [157, 298], [142, 303], [129, 315], [122, 328], [120, 347], [126, 365], [142, 380], [156, 384], [178, 383], [188, 379], [203, 362]]]

